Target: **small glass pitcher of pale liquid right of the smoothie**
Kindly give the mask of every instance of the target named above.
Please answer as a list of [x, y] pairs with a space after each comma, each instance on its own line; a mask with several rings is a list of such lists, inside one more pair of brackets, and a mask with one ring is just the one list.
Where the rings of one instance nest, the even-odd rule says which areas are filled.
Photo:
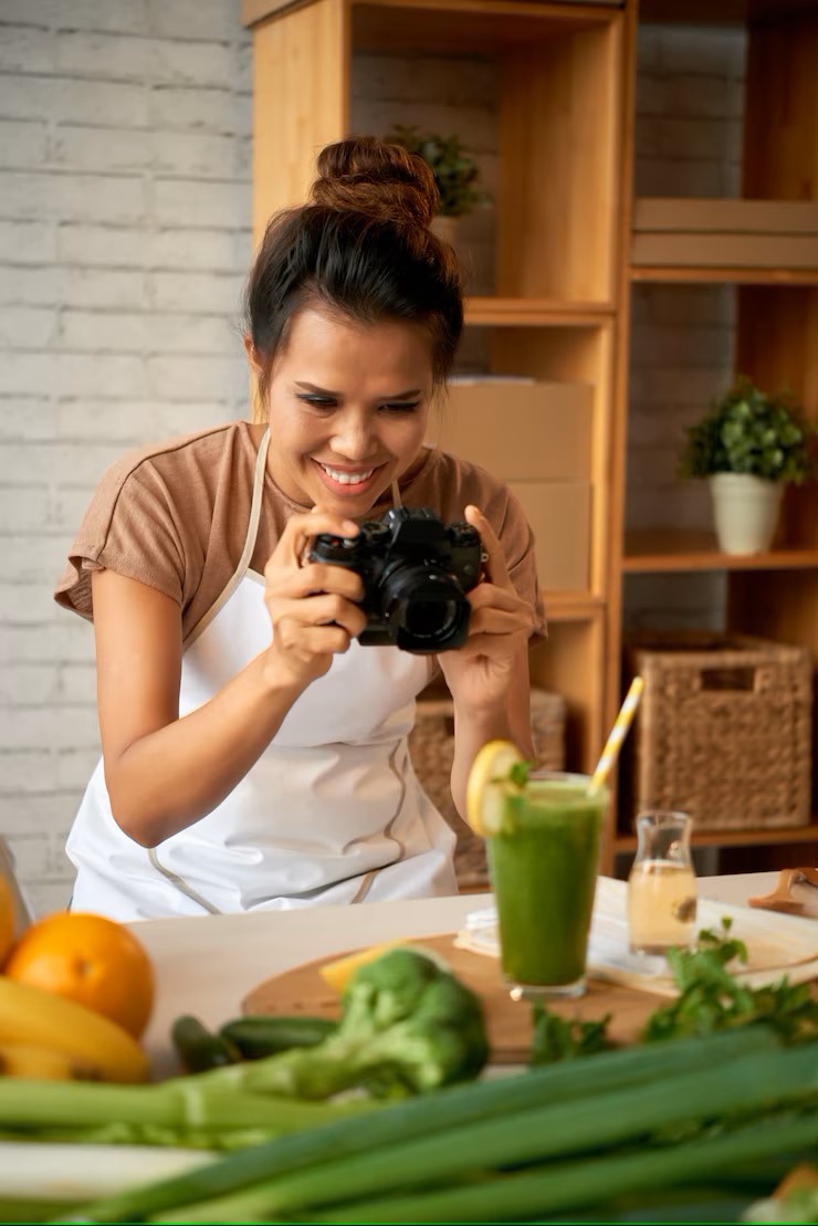
[[689, 813], [649, 809], [636, 818], [639, 843], [628, 878], [632, 953], [665, 954], [695, 942], [697, 884]]

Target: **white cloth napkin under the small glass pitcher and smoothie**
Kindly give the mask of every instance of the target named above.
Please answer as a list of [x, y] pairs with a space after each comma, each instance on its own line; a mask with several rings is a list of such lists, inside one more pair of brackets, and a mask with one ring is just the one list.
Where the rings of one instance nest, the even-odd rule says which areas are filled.
[[[632, 954], [628, 948], [627, 881], [600, 877], [587, 949], [587, 972], [594, 978], [624, 983], [645, 992], [675, 996], [665, 958]], [[730, 935], [747, 945], [747, 962], [731, 971], [751, 987], [774, 983], [785, 973], [792, 981], [818, 976], [818, 927], [812, 920], [754, 911], [699, 899], [697, 931], [720, 931], [722, 917], [732, 920]], [[499, 956], [497, 912], [493, 906], [471, 911], [455, 945], [489, 958]]]

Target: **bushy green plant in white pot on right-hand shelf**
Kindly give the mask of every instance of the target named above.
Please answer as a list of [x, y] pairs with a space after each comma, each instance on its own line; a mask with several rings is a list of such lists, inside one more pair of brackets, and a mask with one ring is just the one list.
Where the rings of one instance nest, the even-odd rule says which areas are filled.
[[816, 472], [809, 446], [816, 433], [790, 395], [769, 395], [747, 376], [687, 427], [679, 474], [709, 479], [725, 553], [769, 549], [784, 487]]

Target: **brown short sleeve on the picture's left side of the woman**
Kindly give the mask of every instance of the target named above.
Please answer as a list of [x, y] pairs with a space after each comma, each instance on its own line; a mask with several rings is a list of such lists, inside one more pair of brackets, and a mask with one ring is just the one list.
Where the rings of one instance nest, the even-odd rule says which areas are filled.
[[112, 466], [101, 481], [71, 546], [54, 597], [93, 618], [91, 573], [114, 570], [183, 602], [184, 516], [150, 462]]

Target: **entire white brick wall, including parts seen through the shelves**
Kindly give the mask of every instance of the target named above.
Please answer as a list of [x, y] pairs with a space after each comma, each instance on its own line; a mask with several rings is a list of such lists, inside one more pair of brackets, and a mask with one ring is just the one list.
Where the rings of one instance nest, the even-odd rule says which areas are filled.
[[[640, 55], [638, 190], [735, 191], [741, 39], [649, 29]], [[353, 130], [457, 131], [493, 192], [491, 63], [359, 55], [352, 80]], [[38, 912], [70, 894], [98, 754], [92, 633], [50, 595], [67, 546], [112, 459], [247, 411], [250, 91], [239, 0], [0, 0], [0, 834]], [[464, 224], [473, 292], [493, 227], [491, 206]], [[728, 369], [732, 304], [655, 288], [635, 314], [629, 521], [700, 522], [672, 435]], [[629, 592], [635, 620], [710, 606]]]

